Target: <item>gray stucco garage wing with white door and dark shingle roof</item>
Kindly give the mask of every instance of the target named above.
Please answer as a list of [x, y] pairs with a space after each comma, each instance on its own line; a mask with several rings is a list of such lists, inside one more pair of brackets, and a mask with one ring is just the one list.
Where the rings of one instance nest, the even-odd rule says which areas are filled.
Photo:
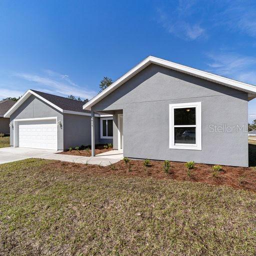
[[[83, 104], [82, 101], [27, 90], [4, 114], [9, 118], [10, 146], [64, 150], [90, 145], [90, 111], [83, 110]], [[111, 130], [112, 116], [95, 114], [96, 143], [112, 142], [112, 132], [107, 133], [106, 122]]]

